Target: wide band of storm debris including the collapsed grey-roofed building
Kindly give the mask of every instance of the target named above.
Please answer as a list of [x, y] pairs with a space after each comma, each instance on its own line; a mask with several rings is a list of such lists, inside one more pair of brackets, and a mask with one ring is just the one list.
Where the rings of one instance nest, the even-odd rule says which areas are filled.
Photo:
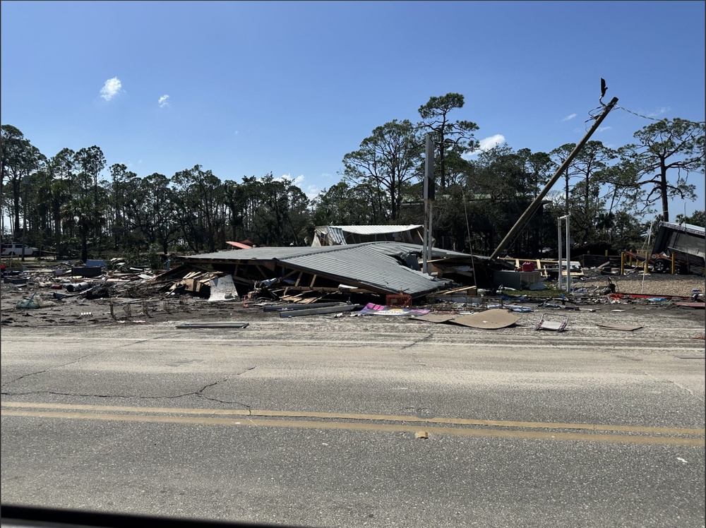
[[[602, 331], [638, 335], [645, 323], [628, 317], [635, 311], [703, 320], [705, 284], [698, 275], [606, 275], [590, 268], [573, 280], [570, 293], [546, 274], [542, 284], [532, 284], [539, 287], [519, 290], [497, 284], [498, 277], [508, 282], [513, 272], [522, 274], [503, 260], [433, 248], [433, 274], [426, 275], [420, 252], [421, 246], [396, 242], [233, 249], [180, 257], [179, 265], [156, 274], [108, 269], [100, 260], [28, 261], [4, 275], [0, 323], [246, 328], [258, 320], [393, 316], [467, 331], [570, 332], [580, 315]], [[537, 280], [539, 272], [525, 275]]]

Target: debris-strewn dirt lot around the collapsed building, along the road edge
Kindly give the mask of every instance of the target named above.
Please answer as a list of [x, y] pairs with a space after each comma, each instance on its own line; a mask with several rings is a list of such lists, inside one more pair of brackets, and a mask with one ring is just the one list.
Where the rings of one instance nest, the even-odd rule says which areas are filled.
[[[91, 298], [87, 292], [68, 293], [66, 284], [72, 282], [88, 282], [92, 286], [109, 287], [106, 275], [94, 279], [71, 277], [56, 277], [53, 270], [54, 262], [30, 262], [25, 264], [23, 277], [25, 284], [0, 285], [0, 306], [2, 328], [38, 328], [50, 326], [74, 326], [90, 328], [92, 326], [126, 325], [164, 325], [174, 326], [178, 323], [215, 323], [215, 322], [247, 322], [247, 323], [282, 323], [289, 324], [294, 320], [304, 323], [329, 324], [339, 328], [339, 325], [355, 325], [356, 328], [375, 326], [381, 323], [432, 325], [414, 321], [406, 316], [355, 316], [355, 312], [345, 314], [325, 314], [301, 316], [297, 318], [280, 318], [277, 312], [263, 311], [263, 303], [273, 303], [272, 299], [231, 299], [227, 301], [209, 301], [191, 294], [174, 295], [158, 291], [148, 286], [149, 281], [140, 278], [139, 273], [130, 275], [130, 281], [122, 283], [111, 296]], [[113, 278], [115, 275], [113, 275]], [[123, 275], [123, 280], [126, 276]], [[616, 299], [606, 295], [605, 289], [609, 280], [616, 285], [618, 294], [649, 294], [650, 299]], [[550, 289], [542, 292], [505, 291], [505, 297], [489, 296], [480, 305], [474, 304], [431, 304], [414, 306], [429, 308], [431, 313], [471, 313], [496, 307], [498, 302], [503, 306], [522, 306], [525, 312], [515, 313], [520, 320], [512, 328], [501, 330], [477, 330], [457, 325], [434, 325], [442, 332], [497, 332], [513, 333], [515, 335], [532, 333], [542, 313], [569, 320], [567, 330], [580, 333], [596, 331], [596, 325], [602, 323], [626, 323], [642, 325], [643, 328], [659, 326], [665, 332], [671, 328], [677, 332], [680, 326], [688, 328], [690, 335], [680, 337], [699, 338], [703, 335], [705, 311], [701, 308], [678, 306], [681, 299], [671, 299], [672, 296], [688, 298], [693, 290], [704, 292], [705, 279], [696, 275], [642, 275], [634, 272], [630, 275], [601, 275], [597, 270], [585, 270], [582, 280], [575, 280], [575, 291], [572, 295], [561, 299], [561, 292], [551, 290], [556, 284], [546, 283]], [[61, 288], [59, 288], [61, 285]], [[163, 288], [161, 288], [163, 289]], [[94, 290], [95, 291], [95, 290]], [[64, 295], [56, 299], [54, 294]], [[518, 299], [518, 296], [521, 296]], [[526, 297], [525, 297], [526, 295]], [[701, 299], [700, 299], [701, 300]], [[371, 299], [378, 302], [377, 299]], [[27, 307], [23, 307], [27, 306]], [[328, 323], [327, 323], [328, 322]], [[345, 326], [343, 328], [345, 328]], [[378, 327], [379, 328], [379, 327]], [[700, 330], [699, 330], [700, 329]], [[606, 332], [601, 330], [602, 333]], [[625, 332], [623, 332], [625, 333]], [[631, 334], [635, 335], [635, 334]]]

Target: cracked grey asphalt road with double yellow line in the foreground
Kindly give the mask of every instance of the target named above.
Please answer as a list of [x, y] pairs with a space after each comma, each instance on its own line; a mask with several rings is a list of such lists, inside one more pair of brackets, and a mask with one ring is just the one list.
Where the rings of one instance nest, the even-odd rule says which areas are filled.
[[2, 501], [313, 527], [702, 527], [703, 325], [654, 325], [4, 328]]

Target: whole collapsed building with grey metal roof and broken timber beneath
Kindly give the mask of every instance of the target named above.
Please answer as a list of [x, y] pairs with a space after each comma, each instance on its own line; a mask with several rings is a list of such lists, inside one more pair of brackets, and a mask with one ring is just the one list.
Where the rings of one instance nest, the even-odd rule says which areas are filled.
[[419, 244], [390, 241], [218, 251], [180, 256], [183, 265], [160, 278], [193, 270], [230, 275], [239, 296], [267, 292], [285, 301], [355, 295], [421, 299], [458, 287], [492, 287], [493, 272], [513, 269], [503, 261], [432, 248], [427, 275], [420, 270], [422, 251]]

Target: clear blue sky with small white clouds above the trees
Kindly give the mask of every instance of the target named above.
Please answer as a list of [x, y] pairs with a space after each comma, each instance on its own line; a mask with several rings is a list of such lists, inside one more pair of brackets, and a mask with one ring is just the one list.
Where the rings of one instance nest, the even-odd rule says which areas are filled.
[[[373, 128], [459, 92], [484, 145], [576, 143], [618, 105], [705, 119], [703, 1], [1, 2], [1, 119], [44, 155], [98, 145], [138, 176], [200, 164], [313, 196]], [[594, 140], [650, 124], [616, 109]], [[107, 175], [107, 172], [106, 172]], [[704, 208], [671, 205], [672, 217]]]

